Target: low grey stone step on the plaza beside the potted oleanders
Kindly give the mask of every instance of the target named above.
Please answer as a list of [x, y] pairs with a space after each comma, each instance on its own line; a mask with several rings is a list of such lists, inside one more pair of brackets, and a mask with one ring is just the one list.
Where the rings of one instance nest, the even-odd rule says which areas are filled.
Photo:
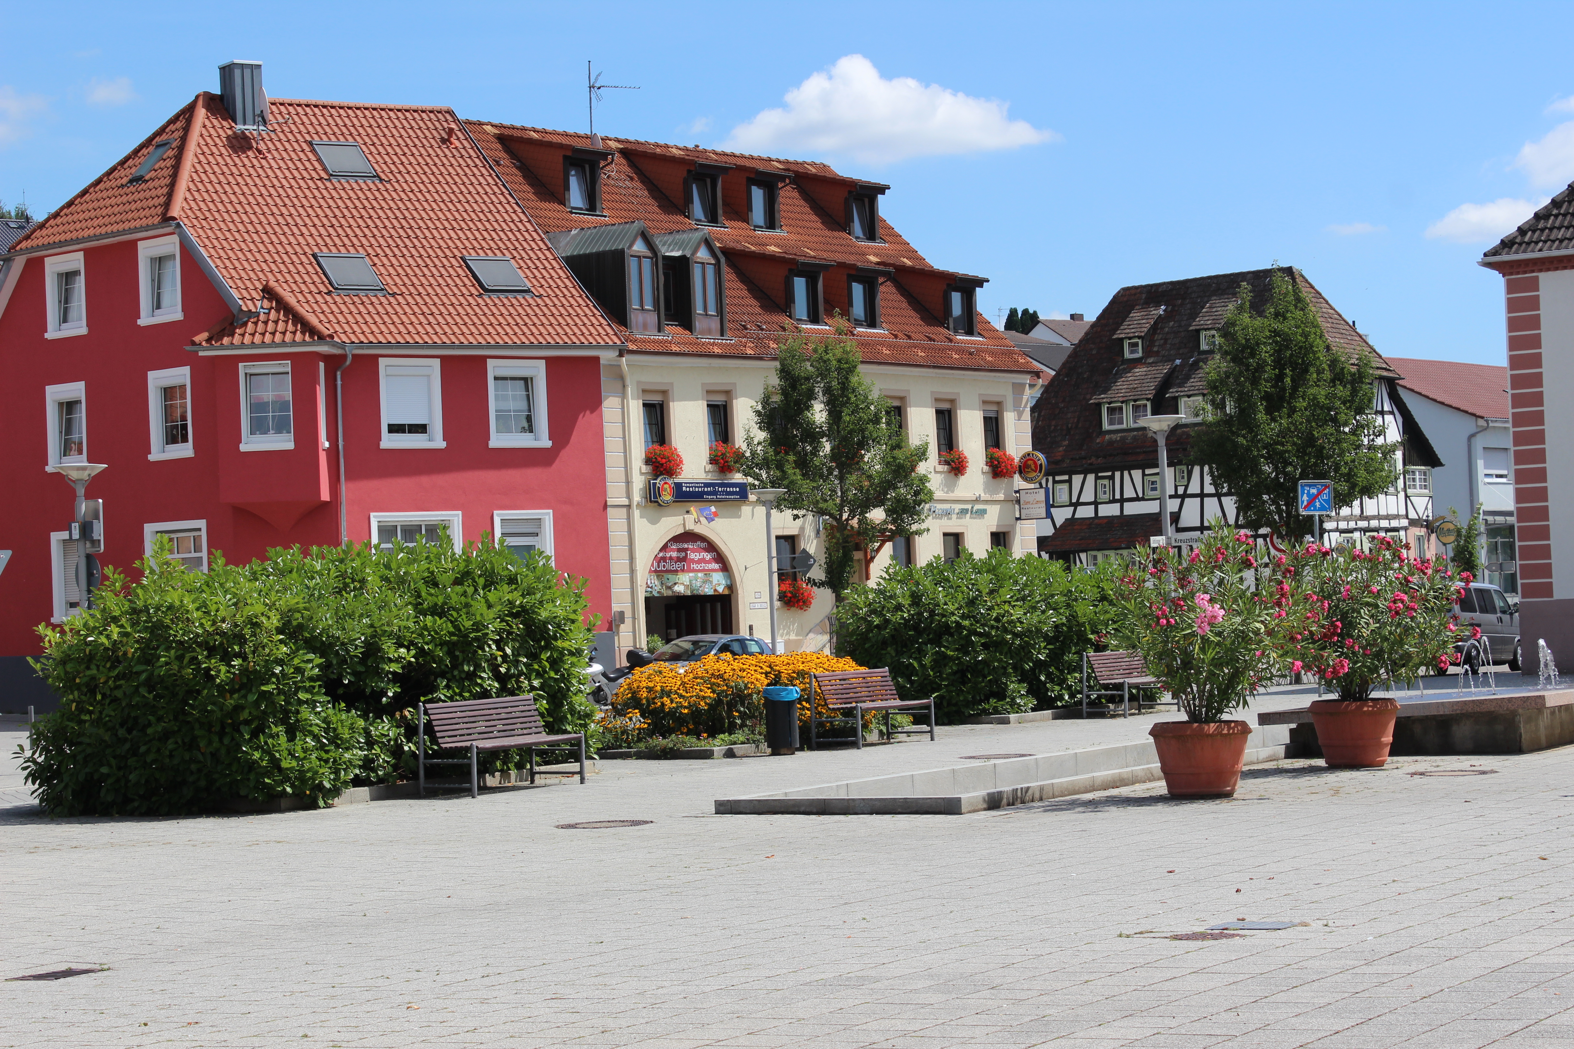
[[[1247, 764], [1278, 761], [1289, 728], [1258, 728], [1247, 741]], [[1072, 794], [1162, 780], [1152, 741], [1007, 758], [977, 764], [877, 775], [773, 794], [716, 799], [718, 815], [943, 815], [1009, 808]]]

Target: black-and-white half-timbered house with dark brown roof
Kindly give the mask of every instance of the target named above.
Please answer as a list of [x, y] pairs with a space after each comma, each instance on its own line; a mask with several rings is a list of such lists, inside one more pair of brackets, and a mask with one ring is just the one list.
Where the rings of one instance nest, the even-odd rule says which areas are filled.
[[[1330, 536], [1380, 533], [1431, 549], [1431, 469], [1437, 455], [1396, 393], [1398, 373], [1366, 343], [1300, 271], [1283, 269], [1317, 310], [1328, 341], [1368, 354], [1377, 373], [1374, 410], [1387, 440], [1396, 440], [1395, 489], [1339, 506], [1324, 519]], [[1169, 535], [1195, 541], [1209, 522], [1236, 522], [1234, 500], [1209, 472], [1187, 464], [1192, 423], [1201, 418], [1204, 368], [1218, 327], [1240, 285], [1253, 302], [1269, 297], [1273, 271], [1218, 274], [1122, 288], [1066, 357], [1033, 410], [1033, 444], [1048, 461], [1050, 519], [1039, 522], [1037, 549], [1048, 557], [1097, 563], [1163, 535], [1162, 484], [1169, 492]], [[1147, 415], [1182, 415], [1169, 431], [1168, 477], [1158, 445], [1141, 426]], [[1313, 480], [1313, 478], [1306, 478]]]

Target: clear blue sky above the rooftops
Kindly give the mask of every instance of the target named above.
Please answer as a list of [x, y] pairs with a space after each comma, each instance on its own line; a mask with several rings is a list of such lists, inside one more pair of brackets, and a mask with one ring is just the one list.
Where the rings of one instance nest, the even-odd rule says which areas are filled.
[[[255, 58], [279, 98], [745, 143], [891, 182], [988, 315], [1306, 275], [1398, 357], [1502, 363], [1475, 259], [1574, 179], [1574, 5], [79, 3], [11, 8], [0, 200], [57, 206]], [[19, 47], [19, 41], [27, 41]], [[861, 58], [856, 58], [861, 57]], [[818, 75], [817, 75], [818, 74]], [[779, 110], [771, 113], [770, 110]]]

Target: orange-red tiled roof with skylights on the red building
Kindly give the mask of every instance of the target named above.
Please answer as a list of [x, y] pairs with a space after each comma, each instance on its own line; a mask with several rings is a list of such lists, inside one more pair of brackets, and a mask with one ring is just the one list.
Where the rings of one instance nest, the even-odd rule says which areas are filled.
[[[445, 107], [269, 99], [269, 134], [238, 134], [198, 94], [14, 250], [179, 220], [239, 299], [200, 346], [334, 338], [370, 344], [619, 346]], [[150, 151], [178, 145], [127, 184]], [[313, 140], [356, 142], [376, 179], [332, 179]], [[365, 255], [387, 294], [338, 294], [316, 252]], [[488, 296], [461, 256], [513, 259], [529, 296]]]

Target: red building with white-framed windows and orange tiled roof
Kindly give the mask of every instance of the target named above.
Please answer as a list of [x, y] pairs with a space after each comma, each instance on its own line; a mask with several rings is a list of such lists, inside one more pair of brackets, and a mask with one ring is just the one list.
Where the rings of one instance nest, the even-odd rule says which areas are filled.
[[[449, 109], [268, 99], [230, 63], [0, 255], [0, 709], [102, 563], [274, 546], [541, 547], [611, 607], [601, 359], [623, 340]], [[42, 426], [39, 425], [42, 423]]]

